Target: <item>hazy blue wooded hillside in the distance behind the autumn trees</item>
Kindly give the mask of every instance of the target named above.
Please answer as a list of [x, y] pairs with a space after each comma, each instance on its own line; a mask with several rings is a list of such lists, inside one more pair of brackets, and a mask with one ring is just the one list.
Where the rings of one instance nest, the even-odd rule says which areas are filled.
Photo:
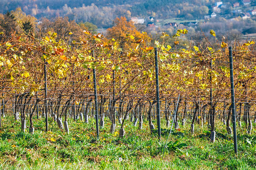
[[[251, 0], [250, 6], [255, 6], [255, 1]], [[216, 2], [219, 0], [1, 0], [0, 12], [5, 14], [20, 7], [39, 20], [68, 16], [76, 22], [91, 22], [101, 28], [110, 27], [120, 16], [204, 19], [205, 15], [212, 14]], [[226, 7], [221, 8], [221, 12], [233, 15], [233, 3], [240, 1], [222, 2]]]

